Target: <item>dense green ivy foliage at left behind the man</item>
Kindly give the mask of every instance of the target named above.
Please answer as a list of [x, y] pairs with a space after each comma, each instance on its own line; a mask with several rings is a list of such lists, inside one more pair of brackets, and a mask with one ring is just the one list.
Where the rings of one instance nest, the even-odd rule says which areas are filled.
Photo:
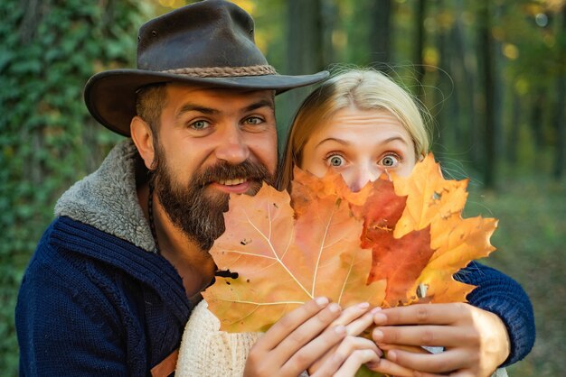
[[17, 373], [14, 307], [55, 200], [118, 140], [88, 115], [82, 87], [135, 64], [135, 0], [0, 2], [0, 371]]

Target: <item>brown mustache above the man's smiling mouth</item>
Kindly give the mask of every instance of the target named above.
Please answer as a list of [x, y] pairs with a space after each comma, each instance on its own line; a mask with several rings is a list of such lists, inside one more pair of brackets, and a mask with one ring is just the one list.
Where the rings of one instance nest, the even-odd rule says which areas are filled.
[[220, 161], [204, 169], [202, 172], [197, 173], [194, 180], [199, 187], [203, 188], [212, 182], [240, 178], [266, 180], [268, 183], [271, 183], [273, 180], [265, 166], [253, 163], [249, 160], [243, 161], [237, 165]]

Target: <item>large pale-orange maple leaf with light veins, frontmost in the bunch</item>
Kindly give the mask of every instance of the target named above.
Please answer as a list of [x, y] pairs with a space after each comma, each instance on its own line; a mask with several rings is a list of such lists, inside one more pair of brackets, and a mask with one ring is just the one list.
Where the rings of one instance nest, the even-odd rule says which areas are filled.
[[[307, 198], [316, 192], [298, 188]], [[361, 221], [335, 195], [290, 207], [287, 192], [264, 185], [255, 197], [231, 196], [226, 231], [211, 253], [220, 270], [203, 292], [209, 308], [231, 332], [265, 331], [298, 305], [325, 296], [344, 306], [381, 303], [384, 281], [366, 285], [372, 254], [363, 250]]]

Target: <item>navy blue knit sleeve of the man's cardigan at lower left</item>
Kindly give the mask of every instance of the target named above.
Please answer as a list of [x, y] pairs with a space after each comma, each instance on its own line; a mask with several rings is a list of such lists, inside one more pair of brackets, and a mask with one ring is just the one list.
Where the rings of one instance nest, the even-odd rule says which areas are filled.
[[[69, 263], [53, 258], [48, 246], [35, 253], [15, 309], [20, 375], [126, 376], [130, 372], [116, 313], [108, 299], [95, 297], [80, 277]], [[93, 299], [99, 300], [98, 305]]]

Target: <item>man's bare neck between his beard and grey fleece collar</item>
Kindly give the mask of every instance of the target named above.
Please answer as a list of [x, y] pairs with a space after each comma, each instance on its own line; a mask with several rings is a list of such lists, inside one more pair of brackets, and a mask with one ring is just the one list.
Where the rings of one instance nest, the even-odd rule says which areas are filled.
[[[137, 189], [137, 197], [146, 218], [148, 216], [147, 198], [149, 189], [143, 185]], [[189, 299], [200, 294], [214, 277], [216, 266], [208, 251], [202, 250], [189, 239], [166, 215], [165, 209], [154, 194], [153, 220], [159, 251], [163, 257], [175, 266], [183, 278], [184, 290]]]

